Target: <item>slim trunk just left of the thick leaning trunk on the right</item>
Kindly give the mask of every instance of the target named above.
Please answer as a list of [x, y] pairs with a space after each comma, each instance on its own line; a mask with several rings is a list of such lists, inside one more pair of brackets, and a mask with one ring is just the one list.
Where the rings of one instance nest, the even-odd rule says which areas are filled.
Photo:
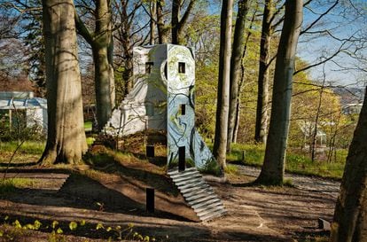
[[266, 143], [268, 125], [269, 103], [269, 51], [273, 29], [274, 4], [272, 0], [266, 0], [262, 19], [262, 39], [260, 43], [259, 77], [256, 106], [255, 141]]

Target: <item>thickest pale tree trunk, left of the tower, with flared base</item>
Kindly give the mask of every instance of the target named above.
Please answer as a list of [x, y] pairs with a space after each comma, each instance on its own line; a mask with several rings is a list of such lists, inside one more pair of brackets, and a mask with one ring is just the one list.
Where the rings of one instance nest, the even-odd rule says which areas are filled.
[[43, 0], [48, 136], [42, 164], [82, 161], [87, 151], [73, 0]]

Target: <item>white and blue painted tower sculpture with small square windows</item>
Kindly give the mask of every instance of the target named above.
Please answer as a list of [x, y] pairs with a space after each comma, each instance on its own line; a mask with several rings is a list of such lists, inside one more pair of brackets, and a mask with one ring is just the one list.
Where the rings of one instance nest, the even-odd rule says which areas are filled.
[[160, 44], [134, 48], [134, 88], [107, 122], [105, 132], [129, 136], [167, 132], [168, 166], [213, 168], [216, 161], [195, 129], [195, 57], [190, 48]]

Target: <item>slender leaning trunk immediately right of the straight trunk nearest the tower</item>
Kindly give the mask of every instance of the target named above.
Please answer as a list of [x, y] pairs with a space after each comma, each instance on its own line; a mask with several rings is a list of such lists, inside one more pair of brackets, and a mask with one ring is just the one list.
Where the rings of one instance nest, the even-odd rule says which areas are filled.
[[240, 0], [238, 2], [238, 14], [236, 20], [236, 27], [233, 37], [232, 56], [230, 58], [230, 110], [228, 117], [228, 138], [227, 138], [227, 152], [230, 152], [230, 144], [233, 139], [233, 131], [237, 120], [238, 110], [238, 82], [241, 78], [242, 56], [246, 45], [246, 15], [248, 11], [248, 0]]

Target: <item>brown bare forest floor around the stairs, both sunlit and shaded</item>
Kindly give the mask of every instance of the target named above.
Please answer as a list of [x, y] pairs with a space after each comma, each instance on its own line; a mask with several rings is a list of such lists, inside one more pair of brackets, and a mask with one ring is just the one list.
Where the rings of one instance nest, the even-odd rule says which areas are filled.
[[[169, 188], [164, 171], [149, 162], [93, 171], [11, 169], [7, 177], [37, 183], [0, 194], [0, 241], [326, 241], [328, 231], [318, 228], [317, 219], [332, 220], [339, 182], [288, 174], [290, 186], [254, 186], [259, 169], [236, 167], [227, 183], [210, 182], [228, 210], [211, 222], [198, 222], [180, 193]], [[147, 186], [156, 188], [154, 214], [145, 212]], [[11, 225], [16, 220], [43, 225], [17, 232]], [[45, 225], [53, 221], [63, 230], [56, 238], [50, 237], [55, 228]], [[80, 225], [69, 230], [70, 222]]]

